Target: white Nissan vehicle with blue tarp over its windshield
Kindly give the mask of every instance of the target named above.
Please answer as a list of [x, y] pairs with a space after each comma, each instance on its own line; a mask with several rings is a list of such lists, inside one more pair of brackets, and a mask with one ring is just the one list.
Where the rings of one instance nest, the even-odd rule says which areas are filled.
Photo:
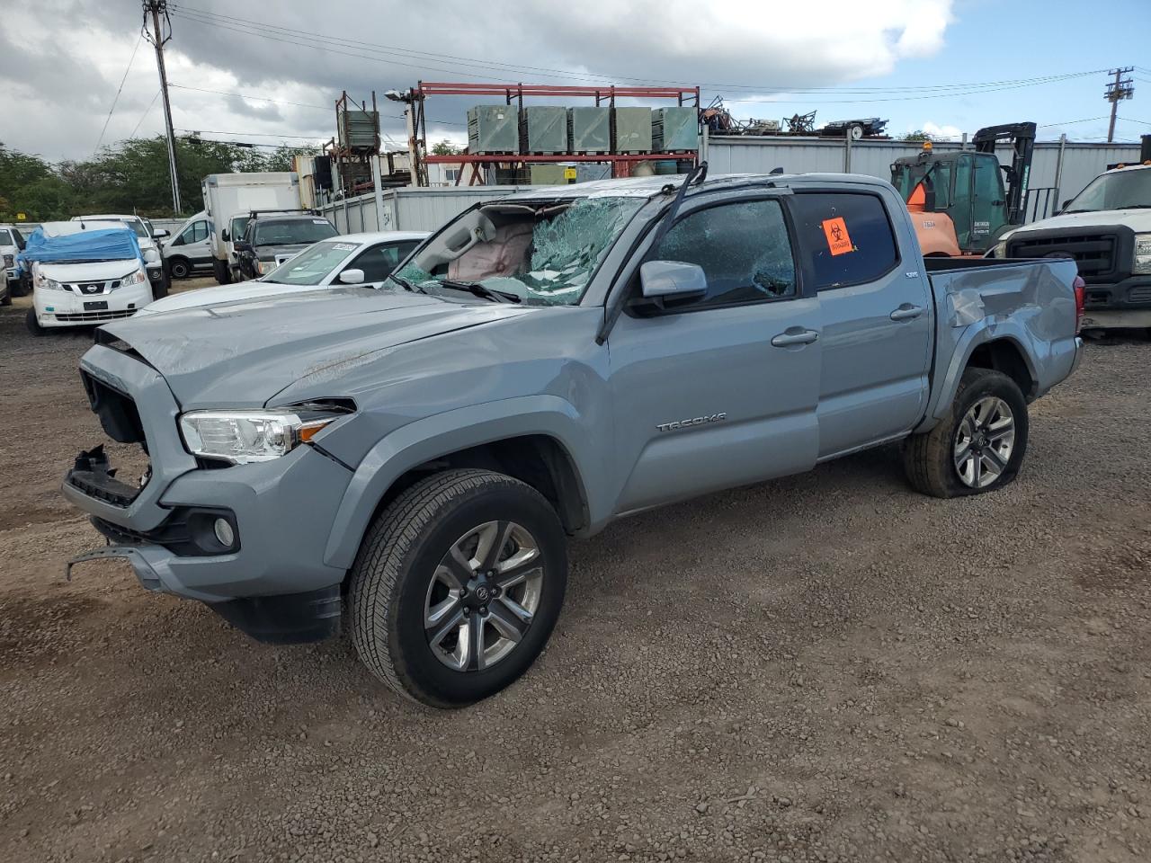
[[31, 273], [33, 336], [129, 318], [154, 296], [139, 240], [123, 222], [45, 222], [21, 261]]

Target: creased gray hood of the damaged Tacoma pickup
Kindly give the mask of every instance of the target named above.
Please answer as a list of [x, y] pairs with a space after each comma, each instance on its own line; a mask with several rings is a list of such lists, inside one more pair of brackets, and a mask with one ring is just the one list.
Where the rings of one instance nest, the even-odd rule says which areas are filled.
[[401, 291], [327, 288], [129, 318], [102, 329], [123, 343], [117, 348], [135, 351], [162, 374], [188, 411], [264, 405], [311, 375], [322, 375], [330, 395], [340, 396], [341, 365], [524, 313], [531, 312]]

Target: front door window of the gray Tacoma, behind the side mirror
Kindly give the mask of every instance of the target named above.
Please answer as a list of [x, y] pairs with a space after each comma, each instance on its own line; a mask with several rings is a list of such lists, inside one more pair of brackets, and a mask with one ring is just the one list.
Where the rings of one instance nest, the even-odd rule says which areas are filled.
[[651, 255], [698, 264], [708, 277], [704, 297], [681, 308], [707, 308], [795, 296], [795, 261], [775, 199], [721, 204], [680, 219]]

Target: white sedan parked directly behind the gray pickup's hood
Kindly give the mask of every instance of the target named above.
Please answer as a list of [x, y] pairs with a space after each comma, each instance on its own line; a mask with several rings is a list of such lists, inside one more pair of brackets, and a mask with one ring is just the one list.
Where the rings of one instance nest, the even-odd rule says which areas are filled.
[[[384, 280], [427, 237], [426, 231], [345, 234], [305, 249], [266, 276], [173, 293], [140, 310], [158, 314], [219, 306], [261, 297], [281, 297], [319, 288], [381, 288]], [[209, 265], [211, 266], [211, 265]]]

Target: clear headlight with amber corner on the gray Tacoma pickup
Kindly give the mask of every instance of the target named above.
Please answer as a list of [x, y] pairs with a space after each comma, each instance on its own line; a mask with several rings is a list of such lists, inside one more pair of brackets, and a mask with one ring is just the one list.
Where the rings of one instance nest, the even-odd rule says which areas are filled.
[[180, 433], [193, 456], [246, 465], [288, 455], [343, 415], [304, 410], [190, 411], [180, 418]]

